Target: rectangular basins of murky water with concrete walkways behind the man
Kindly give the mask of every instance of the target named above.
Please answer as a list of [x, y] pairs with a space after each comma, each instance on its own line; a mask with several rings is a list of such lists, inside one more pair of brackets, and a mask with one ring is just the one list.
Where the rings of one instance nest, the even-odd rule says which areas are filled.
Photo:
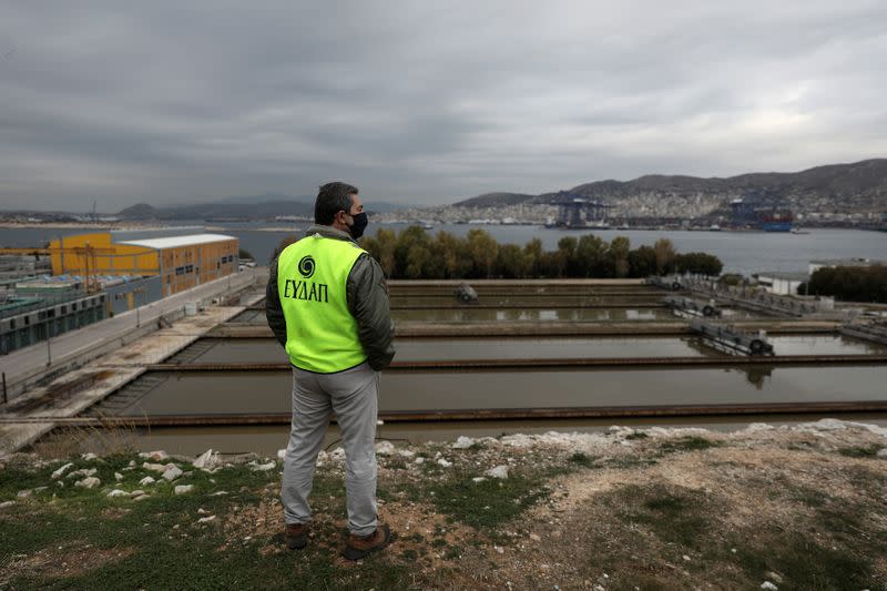
[[[662, 305], [665, 294], [641, 281], [472, 281], [480, 305], [455, 297], [460, 284], [389, 285], [392, 310], [409, 315], [396, 318], [399, 353], [381, 377], [379, 418], [386, 425], [427, 437], [435, 429], [501, 432], [616, 417], [653, 424], [685, 417], [692, 424], [715, 416], [741, 421], [763, 414], [791, 421], [887, 412], [887, 346], [838, 336], [836, 318], [744, 314], [732, 316], [730, 326], [694, 318], [711, 326], [703, 335], [687, 319], [671, 317]], [[53, 426], [130, 426], [137, 427], [143, 449], [157, 449], [152, 438], [164, 437], [164, 446], [190, 452], [188, 446], [207, 447], [195, 444], [198, 438], [212, 438], [214, 447], [223, 439], [228, 449], [256, 449], [265, 432], [274, 438], [268, 449], [277, 449], [292, 420], [288, 398], [281, 395], [292, 388], [292, 366], [265, 322], [261, 294], [241, 298], [244, 304], [226, 300], [224, 314], [225, 306], [210, 306], [186, 316], [175, 330], [144, 337], [137, 347], [17, 399], [0, 418], [0, 435], [20, 435], [8, 440], [27, 445]], [[573, 317], [599, 306], [648, 305], [662, 315]], [[524, 314], [542, 306], [569, 314]], [[432, 314], [453, 309], [471, 313], [469, 319]], [[724, 315], [733, 312], [727, 307]], [[757, 333], [762, 328], [773, 335], [768, 342]], [[754, 335], [764, 345], [754, 345]], [[496, 422], [504, 420], [533, 422]], [[421, 427], [426, 421], [441, 425]]]

